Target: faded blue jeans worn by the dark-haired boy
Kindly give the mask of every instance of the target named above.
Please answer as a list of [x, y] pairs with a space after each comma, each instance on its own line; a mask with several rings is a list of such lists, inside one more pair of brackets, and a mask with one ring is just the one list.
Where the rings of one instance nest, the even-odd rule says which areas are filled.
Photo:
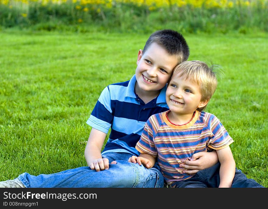
[[128, 162], [133, 154], [109, 152], [102, 155], [109, 162], [108, 170], [96, 172], [90, 167], [79, 167], [54, 174], [30, 175], [23, 173], [19, 180], [25, 187], [163, 187], [164, 178], [158, 165], [147, 169]]

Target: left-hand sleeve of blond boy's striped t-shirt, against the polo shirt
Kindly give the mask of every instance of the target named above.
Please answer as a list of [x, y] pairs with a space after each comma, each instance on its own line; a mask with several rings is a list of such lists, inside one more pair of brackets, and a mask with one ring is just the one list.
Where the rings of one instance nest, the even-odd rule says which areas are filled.
[[157, 149], [153, 142], [153, 127], [150, 118], [144, 125], [143, 132], [135, 147], [140, 153], [146, 153], [157, 157]]

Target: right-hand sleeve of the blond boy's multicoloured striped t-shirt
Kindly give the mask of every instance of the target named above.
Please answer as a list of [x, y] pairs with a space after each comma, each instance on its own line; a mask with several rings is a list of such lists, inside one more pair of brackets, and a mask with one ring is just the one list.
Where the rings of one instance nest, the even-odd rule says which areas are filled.
[[212, 132], [212, 136], [209, 140], [208, 147], [214, 150], [223, 149], [234, 142], [227, 130], [221, 124], [220, 120], [217, 119], [215, 115], [212, 115], [210, 120], [210, 131]]

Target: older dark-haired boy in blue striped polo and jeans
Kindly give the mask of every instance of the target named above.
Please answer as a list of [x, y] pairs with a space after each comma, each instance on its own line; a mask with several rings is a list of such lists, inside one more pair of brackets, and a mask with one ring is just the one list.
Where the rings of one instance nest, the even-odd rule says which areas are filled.
[[[135, 75], [102, 91], [87, 124], [92, 127], [85, 148], [88, 166], [38, 176], [23, 173], [0, 187], [163, 187], [159, 166], [147, 169], [129, 163], [139, 156], [135, 145], [147, 119], [168, 110], [165, 101], [167, 82], [173, 69], [189, 57], [184, 37], [173, 30], [153, 33], [139, 50]], [[109, 139], [101, 152], [106, 134]], [[217, 163], [215, 152], [203, 152], [189, 174]], [[192, 165], [186, 165], [192, 168]], [[199, 166], [201, 165], [201, 166]]]

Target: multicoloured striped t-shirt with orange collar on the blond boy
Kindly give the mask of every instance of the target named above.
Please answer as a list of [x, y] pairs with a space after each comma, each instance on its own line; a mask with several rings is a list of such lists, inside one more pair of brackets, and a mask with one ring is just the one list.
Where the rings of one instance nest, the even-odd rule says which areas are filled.
[[197, 152], [222, 149], [233, 139], [213, 114], [196, 111], [189, 123], [179, 126], [168, 120], [168, 112], [148, 119], [136, 149], [157, 157], [165, 181], [172, 186], [175, 181], [192, 177], [182, 173], [185, 169], [179, 168], [181, 160]]

